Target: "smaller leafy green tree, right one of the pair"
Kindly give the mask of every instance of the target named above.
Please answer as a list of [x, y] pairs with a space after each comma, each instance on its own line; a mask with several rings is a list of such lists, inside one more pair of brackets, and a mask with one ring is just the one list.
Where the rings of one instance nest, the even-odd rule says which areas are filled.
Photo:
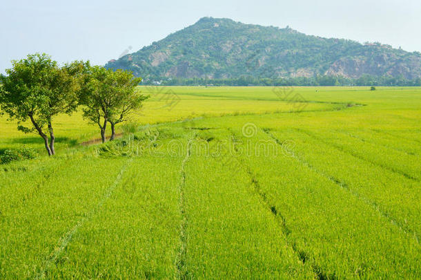
[[141, 78], [128, 71], [112, 71], [100, 66], [88, 67], [83, 75], [79, 103], [84, 106], [84, 118], [98, 125], [101, 140], [106, 141], [106, 127], [111, 125], [111, 138], [115, 138], [115, 125], [128, 120], [130, 113], [141, 108], [146, 95], [136, 86]]

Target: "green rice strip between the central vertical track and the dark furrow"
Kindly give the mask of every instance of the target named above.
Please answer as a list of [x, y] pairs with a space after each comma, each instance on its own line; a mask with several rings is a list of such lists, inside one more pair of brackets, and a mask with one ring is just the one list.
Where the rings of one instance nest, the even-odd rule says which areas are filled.
[[[186, 165], [188, 278], [314, 278], [286, 243], [246, 171], [218, 145], [229, 134], [215, 131], [213, 136], [206, 146], [210, 156], [192, 149]], [[196, 140], [193, 147], [201, 142]]]

